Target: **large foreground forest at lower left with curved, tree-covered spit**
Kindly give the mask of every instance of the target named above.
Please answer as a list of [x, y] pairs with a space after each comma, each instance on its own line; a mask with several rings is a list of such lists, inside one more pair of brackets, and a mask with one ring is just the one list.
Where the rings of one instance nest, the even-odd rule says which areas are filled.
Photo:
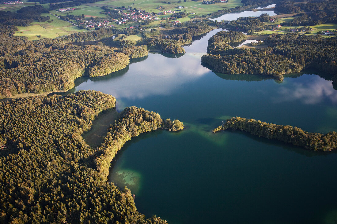
[[126, 108], [91, 148], [82, 133], [115, 104], [97, 91], [0, 102], [1, 223], [166, 223], [137, 212], [130, 190], [107, 182], [105, 171], [131, 137], [183, 124]]

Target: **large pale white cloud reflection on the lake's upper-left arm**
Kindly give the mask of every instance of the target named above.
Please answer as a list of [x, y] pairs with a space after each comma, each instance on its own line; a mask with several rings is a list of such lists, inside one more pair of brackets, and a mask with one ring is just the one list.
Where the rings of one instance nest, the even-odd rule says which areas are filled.
[[129, 70], [108, 80], [89, 80], [76, 87], [94, 89], [116, 98], [143, 99], [151, 95], [169, 95], [186, 82], [210, 72], [200, 64], [200, 60], [190, 55], [180, 59], [166, 58], [150, 53], [142, 64], [129, 66]]

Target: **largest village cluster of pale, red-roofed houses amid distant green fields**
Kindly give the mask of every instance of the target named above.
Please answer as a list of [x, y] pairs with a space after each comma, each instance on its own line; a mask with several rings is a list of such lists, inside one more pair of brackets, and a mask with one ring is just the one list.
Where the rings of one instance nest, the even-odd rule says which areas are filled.
[[143, 10], [136, 10], [136, 9], [128, 9], [127, 12], [123, 12], [123, 10], [116, 9], [118, 12], [122, 14], [120, 20], [113, 19], [117, 24], [125, 24], [127, 21], [137, 22], [140, 23], [145, 20], [157, 20], [158, 17], [154, 12], [145, 12]]

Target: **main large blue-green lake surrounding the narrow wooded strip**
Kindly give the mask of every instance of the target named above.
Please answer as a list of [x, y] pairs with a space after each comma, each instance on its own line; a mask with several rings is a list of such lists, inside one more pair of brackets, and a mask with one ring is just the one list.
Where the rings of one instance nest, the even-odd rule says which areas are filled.
[[133, 138], [116, 155], [109, 180], [135, 193], [139, 212], [169, 223], [334, 223], [336, 153], [241, 131], [211, 133], [233, 116], [309, 132], [337, 130], [332, 81], [302, 73], [283, 82], [214, 73], [200, 58], [218, 31], [184, 46], [184, 55], [149, 53], [75, 87], [115, 96], [119, 111], [134, 105], [185, 124], [177, 133]]

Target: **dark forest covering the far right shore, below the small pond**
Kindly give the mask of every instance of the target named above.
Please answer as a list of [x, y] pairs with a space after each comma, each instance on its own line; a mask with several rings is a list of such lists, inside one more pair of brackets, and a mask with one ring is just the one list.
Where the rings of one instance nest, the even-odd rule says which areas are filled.
[[217, 72], [227, 74], [263, 74], [282, 80], [283, 74], [316, 68], [337, 81], [337, 39], [300, 34], [272, 34], [262, 49], [227, 49], [230, 55], [204, 55], [201, 61]]

